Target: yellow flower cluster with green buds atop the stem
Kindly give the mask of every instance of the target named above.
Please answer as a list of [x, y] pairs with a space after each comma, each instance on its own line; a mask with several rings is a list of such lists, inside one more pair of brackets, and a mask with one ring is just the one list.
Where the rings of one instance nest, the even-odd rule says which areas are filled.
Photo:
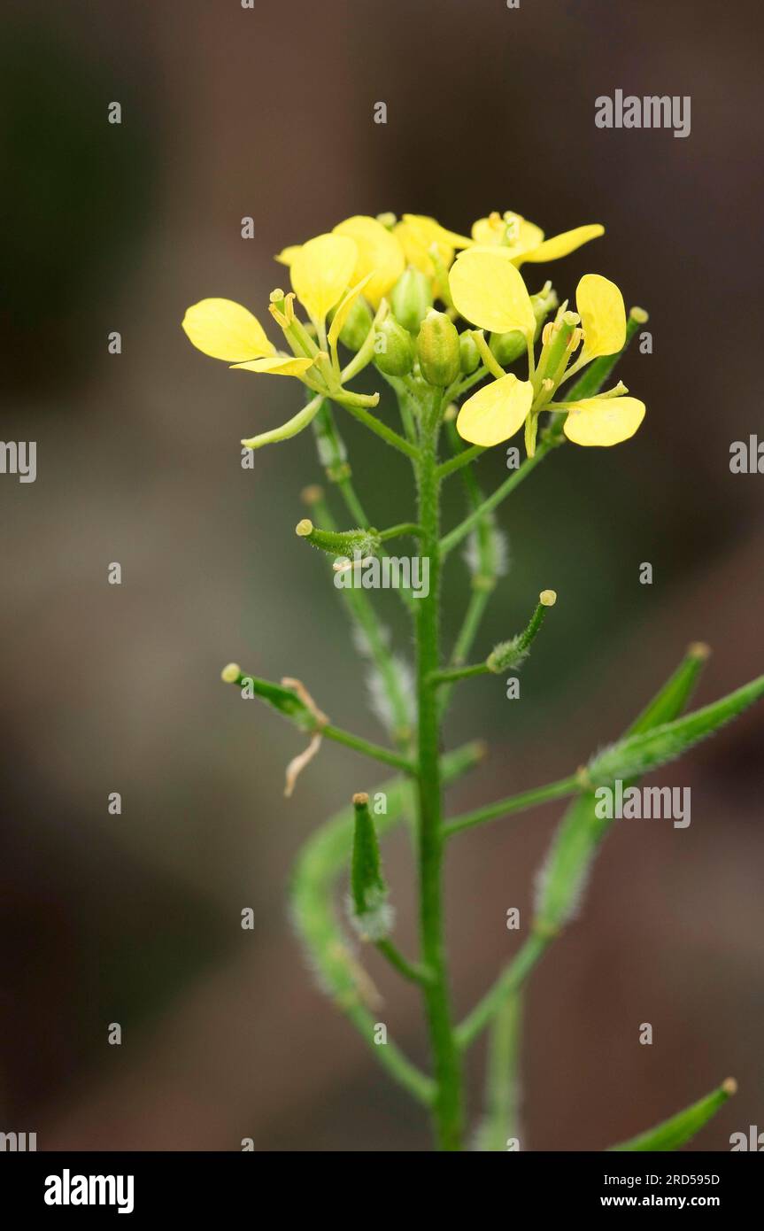
[[[324, 399], [363, 412], [375, 406], [379, 394], [349, 388], [369, 363], [394, 387], [399, 383], [399, 391], [405, 382], [415, 401], [422, 387], [440, 387], [447, 405], [480, 384], [456, 419], [459, 435], [475, 446], [499, 444], [524, 426], [533, 455], [544, 411], [576, 444], [618, 444], [645, 416], [645, 405], [623, 384], [591, 398], [556, 394], [593, 359], [625, 345], [620, 291], [587, 273], [573, 310], [567, 300], [557, 305], [549, 282], [530, 294], [519, 272], [523, 265], [567, 256], [603, 233], [592, 224], [545, 239], [519, 214], [493, 213], [480, 218], [468, 238], [420, 214], [400, 220], [356, 215], [277, 257], [292, 282], [290, 292], [273, 291], [269, 303], [284, 350], [277, 351], [257, 318], [229, 299], [193, 304], [183, 329], [205, 355], [239, 371], [294, 377], [314, 395], [288, 423], [242, 442], [251, 448], [301, 431]], [[352, 353], [344, 366], [340, 342]], [[523, 356], [524, 379], [507, 371]]]

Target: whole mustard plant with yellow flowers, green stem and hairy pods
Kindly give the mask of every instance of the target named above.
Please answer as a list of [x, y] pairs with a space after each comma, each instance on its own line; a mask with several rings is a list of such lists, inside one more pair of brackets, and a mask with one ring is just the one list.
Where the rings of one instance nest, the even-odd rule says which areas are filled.
[[[482, 657], [470, 661], [480, 623], [503, 572], [504, 547], [496, 513], [520, 483], [567, 443], [610, 448], [627, 441], [645, 405], [618, 380], [608, 385], [630, 340], [647, 320], [625, 310], [619, 288], [599, 273], [578, 282], [573, 300], [559, 302], [550, 281], [527, 286], [522, 268], [556, 261], [597, 239], [586, 225], [545, 239], [519, 214], [479, 219], [469, 236], [432, 218], [404, 214], [354, 217], [328, 234], [284, 249], [292, 289], [271, 294], [269, 314], [283, 335], [277, 350], [256, 316], [226, 299], [188, 309], [191, 342], [233, 368], [290, 377], [306, 390], [295, 415], [241, 442], [253, 458], [265, 446], [310, 428], [326, 480], [344, 510], [341, 518], [319, 486], [304, 494], [310, 517], [298, 537], [326, 554], [338, 597], [358, 632], [384, 702], [388, 742], [373, 744], [330, 721], [306, 684], [257, 678], [229, 664], [223, 680], [260, 697], [308, 737], [287, 767], [285, 794], [333, 740], [380, 762], [392, 776], [321, 826], [303, 849], [292, 880], [292, 910], [309, 960], [337, 1007], [360, 1032], [375, 1059], [429, 1113], [442, 1150], [472, 1145], [506, 1150], [517, 1139], [517, 1069], [522, 993], [531, 970], [581, 906], [583, 888], [611, 824], [602, 793], [623, 790], [642, 774], [680, 756], [734, 718], [764, 692], [764, 677], [701, 709], [686, 712], [707, 649], [694, 644], [674, 675], [629, 730], [595, 752], [587, 766], [509, 799], [460, 816], [444, 814], [447, 788], [483, 756], [481, 744], [442, 747], [442, 723], [461, 680], [517, 671], [531, 652], [556, 595], [528, 595], [529, 619]], [[301, 311], [300, 311], [301, 308]], [[392, 426], [379, 393], [358, 391], [369, 368], [394, 394]], [[385, 449], [411, 463], [416, 522], [379, 529], [356, 486], [338, 416], [348, 414]], [[492, 492], [477, 476], [481, 455], [523, 432], [524, 457]], [[384, 446], [384, 448], [383, 448]], [[444, 484], [461, 481], [466, 510], [453, 527], [440, 524]], [[349, 524], [348, 524], [349, 522]], [[394, 555], [394, 540], [416, 544], [413, 558]], [[444, 649], [440, 603], [444, 566], [468, 545], [470, 596], [460, 632]], [[380, 579], [384, 579], [380, 582]], [[399, 590], [415, 632], [413, 671], [390, 646], [369, 590]], [[322, 699], [324, 703], [324, 699]], [[456, 1020], [443, 927], [447, 847], [468, 830], [554, 799], [571, 800], [538, 879], [535, 908], [523, 943], [482, 1000]], [[412, 817], [420, 945], [406, 955], [394, 939], [395, 918], [380, 840]], [[344, 891], [351, 929], [337, 899]], [[358, 945], [373, 945], [397, 975], [421, 992], [431, 1065], [415, 1065], [378, 1020], [378, 993]], [[485, 1108], [468, 1135], [464, 1059], [490, 1032]], [[699, 1103], [613, 1149], [670, 1150], [689, 1140], [734, 1092], [727, 1078]]]

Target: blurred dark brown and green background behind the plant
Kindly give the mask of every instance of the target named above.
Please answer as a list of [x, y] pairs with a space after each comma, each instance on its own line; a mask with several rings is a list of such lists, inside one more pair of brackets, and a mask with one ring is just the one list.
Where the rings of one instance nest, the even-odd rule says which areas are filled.
[[[650, 309], [655, 352], [621, 372], [648, 417], [611, 452], [555, 454], [503, 510], [513, 567], [480, 644], [520, 627], [541, 587], [560, 601], [520, 703], [499, 681], [460, 687], [449, 739], [485, 735], [492, 756], [450, 808], [568, 773], [691, 639], [715, 651], [699, 699], [738, 686], [762, 670], [764, 479], [728, 469], [731, 441], [762, 431], [760, 6], [4, 9], [2, 436], [38, 442], [38, 479], [0, 480], [0, 1128], [41, 1149], [428, 1149], [420, 1112], [316, 991], [285, 908], [300, 843], [384, 771], [325, 747], [285, 803], [300, 737], [219, 682], [230, 659], [299, 676], [335, 721], [381, 737], [337, 596], [294, 538], [317, 478], [310, 435], [240, 468], [239, 438], [292, 415], [299, 390], [229, 373], [180, 321], [205, 295], [267, 319], [272, 254], [353, 213], [605, 223], [539, 283], [570, 294], [595, 270]], [[597, 129], [594, 98], [619, 87], [690, 95], [691, 135]], [[343, 430], [378, 524], [410, 516], [406, 467]], [[481, 463], [488, 487], [504, 474], [501, 449]], [[448, 581], [447, 636], [460, 561]], [[611, 835], [531, 984], [524, 1147], [602, 1149], [730, 1073], [741, 1093], [696, 1149], [764, 1126], [763, 726], [747, 714], [659, 779], [693, 787], [689, 830]], [[560, 811], [454, 843], [460, 1012], [517, 944], [506, 910], [528, 917]], [[405, 842], [386, 858], [412, 949]], [[424, 1061], [416, 997], [369, 966], [383, 1019]]]

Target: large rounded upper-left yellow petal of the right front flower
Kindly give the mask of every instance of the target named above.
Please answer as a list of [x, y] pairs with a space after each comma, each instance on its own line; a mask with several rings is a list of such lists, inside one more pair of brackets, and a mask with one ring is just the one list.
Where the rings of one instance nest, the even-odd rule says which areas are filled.
[[495, 334], [519, 329], [533, 337], [536, 319], [525, 283], [498, 249], [468, 249], [448, 282], [454, 307], [465, 320]]

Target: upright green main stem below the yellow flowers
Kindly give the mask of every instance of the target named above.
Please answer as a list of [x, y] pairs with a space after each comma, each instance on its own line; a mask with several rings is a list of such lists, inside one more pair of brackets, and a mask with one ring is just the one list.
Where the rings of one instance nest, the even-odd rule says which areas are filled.
[[440, 395], [432, 409], [422, 410], [420, 457], [416, 465], [420, 505], [420, 551], [429, 559], [429, 593], [416, 604], [418, 700], [418, 872], [420, 934], [422, 963], [432, 981], [424, 987], [424, 1006], [433, 1055], [436, 1099], [433, 1119], [442, 1150], [460, 1150], [463, 1135], [461, 1057], [452, 1024], [448, 966], [443, 936], [443, 824], [439, 764], [438, 687], [433, 672], [439, 666], [440, 511], [438, 430]]

